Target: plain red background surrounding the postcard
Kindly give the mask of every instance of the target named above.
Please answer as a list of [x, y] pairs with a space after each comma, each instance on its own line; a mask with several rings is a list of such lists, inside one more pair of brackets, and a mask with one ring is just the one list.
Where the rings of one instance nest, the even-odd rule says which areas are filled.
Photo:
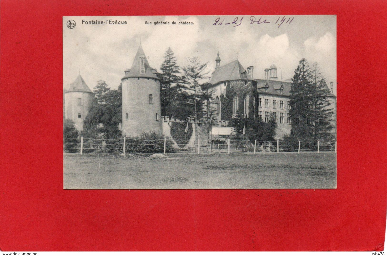
[[[385, 1], [2, 0], [0, 248], [382, 250]], [[337, 14], [336, 190], [63, 190], [62, 16]]]

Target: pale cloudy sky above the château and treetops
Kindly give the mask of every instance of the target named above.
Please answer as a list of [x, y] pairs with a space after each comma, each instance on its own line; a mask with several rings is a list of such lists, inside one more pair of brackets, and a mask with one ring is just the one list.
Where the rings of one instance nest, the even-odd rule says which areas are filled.
[[[285, 21], [279, 26], [283, 17]], [[70, 19], [76, 24], [73, 29], [66, 25]], [[269, 23], [258, 24], [259, 19]], [[90, 25], [82, 20], [127, 24]], [[171, 24], [173, 21], [176, 24]], [[181, 21], [193, 24], [179, 25]], [[254, 78], [262, 79], [264, 69], [272, 63], [278, 68], [278, 78], [282, 74], [286, 80], [293, 77], [301, 58], [310, 64], [317, 61], [336, 94], [336, 15], [65, 16], [63, 88], [79, 74], [91, 90], [98, 80], [106, 81], [111, 89], [118, 88], [124, 70], [132, 66], [140, 40], [149, 64], [158, 71], [168, 47], [180, 67], [187, 64], [188, 57], [198, 56], [207, 63], [209, 77], [218, 50], [221, 65], [238, 59], [245, 69], [254, 66]]]

